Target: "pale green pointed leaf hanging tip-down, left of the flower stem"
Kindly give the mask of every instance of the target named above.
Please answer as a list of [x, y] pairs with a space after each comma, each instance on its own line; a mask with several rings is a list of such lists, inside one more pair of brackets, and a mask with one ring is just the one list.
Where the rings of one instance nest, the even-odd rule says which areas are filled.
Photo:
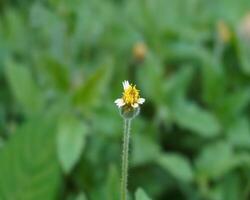
[[63, 171], [68, 174], [79, 160], [85, 146], [86, 125], [71, 116], [58, 127], [57, 154]]

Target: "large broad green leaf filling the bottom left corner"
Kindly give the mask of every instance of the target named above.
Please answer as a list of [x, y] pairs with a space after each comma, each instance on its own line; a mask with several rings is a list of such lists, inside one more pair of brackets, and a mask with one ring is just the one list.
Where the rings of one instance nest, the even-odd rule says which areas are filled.
[[53, 200], [61, 173], [56, 159], [52, 120], [33, 117], [0, 151], [1, 200]]

